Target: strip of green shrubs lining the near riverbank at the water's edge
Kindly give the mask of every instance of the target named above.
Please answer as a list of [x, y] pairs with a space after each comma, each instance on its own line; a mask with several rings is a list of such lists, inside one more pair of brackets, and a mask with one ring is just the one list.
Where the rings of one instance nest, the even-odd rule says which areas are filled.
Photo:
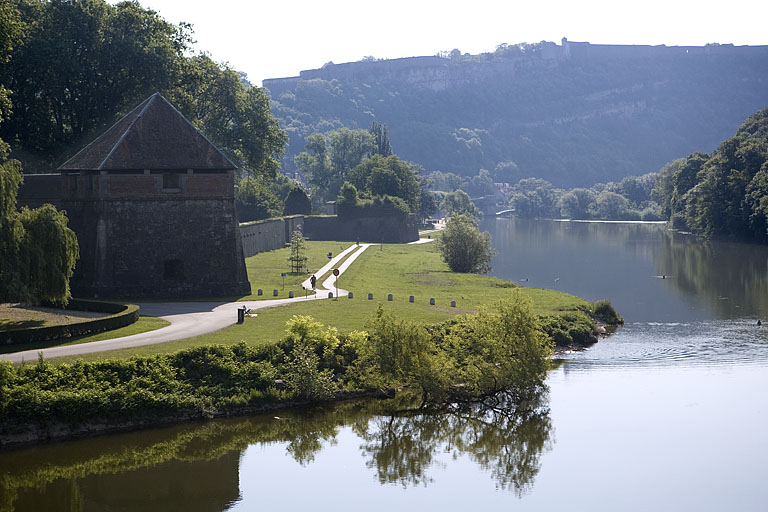
[[340, 334], [294, 316], [277, 344], [207, 346], [130, 360], [0, 364], [0, 428], [169, 415], [213, 416], [277, 400], [408, 386], [423, 405], [518, 395], [543, 383], [551, 344], [530, 303], [508, 301], [433, 328], [381, 310]]

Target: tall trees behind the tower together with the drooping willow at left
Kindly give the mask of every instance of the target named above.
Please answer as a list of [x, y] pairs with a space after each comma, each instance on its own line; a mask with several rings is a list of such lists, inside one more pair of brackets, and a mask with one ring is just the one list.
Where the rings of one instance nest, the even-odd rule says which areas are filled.
[[257, 180], [239, 190], [276, 178], [287, 136], [267, 94], [193, 54], [192, 37], [136, 2], [0, 3], [0, 302], [66, 303], [78, 257], [63, 212], [17, 211], [22, 169], [50, 172], [154, 92]]

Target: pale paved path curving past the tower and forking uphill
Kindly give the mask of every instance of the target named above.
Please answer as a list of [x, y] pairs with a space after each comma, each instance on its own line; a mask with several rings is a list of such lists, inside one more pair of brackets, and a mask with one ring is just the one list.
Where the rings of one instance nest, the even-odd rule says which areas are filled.
[[[348, 247], [328, 264], [318, 270], [315, 275], [322, 277], [323, 274], [335, 268], [336, 265], [348, 254], [351, 256], [339, 266], [339, 273], [343, 273], [365, 251], [370, 244], [360, 244]], [[13, 352], [9, 354], [0, 354], [0, 359], [19, 363], [21, 361], [36, 361], [40, 353], [46, 359], [64, 356], [77, 356], [90, 354], [93, 352], [105, 352], [108, 350], [118, 350], [122, 348], [140, 347], [142, 345], [154, 345], [166, 341], [179, 340], [199, 336], [213, 331], [218, 331], [237, 322], [237, 309], [246, 306], [251, 310], [270, 308], [293, 304], [295, 302], [304, 302], [308, 300], [319, 300], [328, 298], [328, 292], [336, 294], [334, 288], [336, 278], [326, 279], [322, 288], [318, 288], [317, 293], [308, 297], [295, 297], [293, 299], [272, 299], [259, 301], [243, 302], [147, 302], [137, 303], [141, 314], [145, 316], [156, 316], [167, 320], [171, 325], [157, 329], [155, 331], [143, 332], [123, 338], [112, 340], [93, 341], [90, 343], [81, 343], [79, 345], [69, 345], [63, 347], [53, 347], [38, 350], [26, 350], [23, 352]], [[307, 289], [310, 289], [309, 279], [302, 283]], [[339, 295], [346, 295], [346, 290], [339, 289]]]

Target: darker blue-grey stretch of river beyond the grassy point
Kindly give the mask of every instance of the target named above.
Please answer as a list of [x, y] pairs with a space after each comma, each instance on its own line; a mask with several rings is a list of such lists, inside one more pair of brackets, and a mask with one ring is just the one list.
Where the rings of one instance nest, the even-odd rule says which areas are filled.
[[499, 253], [495, 276], [610, 299], [627, 322], [768, 317], [766, 246], [704, 242], [659, 224], [486, 219], [482, 228]]

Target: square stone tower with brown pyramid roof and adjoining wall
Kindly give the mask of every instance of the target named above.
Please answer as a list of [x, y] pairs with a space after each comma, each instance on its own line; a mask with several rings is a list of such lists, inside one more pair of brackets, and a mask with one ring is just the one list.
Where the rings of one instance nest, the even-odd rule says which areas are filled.
[[66, 210], [78, 297], [250, 293], [236, 166], [159, 93], [58, 168], [25, 175], [19, 204]]

